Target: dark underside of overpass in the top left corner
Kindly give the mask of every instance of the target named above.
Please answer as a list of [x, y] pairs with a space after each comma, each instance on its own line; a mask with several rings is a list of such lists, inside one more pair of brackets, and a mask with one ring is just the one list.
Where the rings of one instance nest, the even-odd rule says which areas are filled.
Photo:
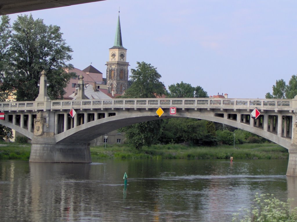
[[0, 15], [58, 8], [96, 1], [105, 0], [2, 0], [0, 1]]

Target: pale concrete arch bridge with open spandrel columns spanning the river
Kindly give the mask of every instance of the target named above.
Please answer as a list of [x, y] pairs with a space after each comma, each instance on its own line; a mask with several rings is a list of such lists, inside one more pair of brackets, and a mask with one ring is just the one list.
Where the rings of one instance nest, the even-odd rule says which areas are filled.
[[[39, 100], [39, 101], [38, 101]], [[90, 163], [89, 141], [134, 123], [160, 118], [197, 118], [234, 126], [289, 150], [287, 175], [296, 176], [297, 98], [294, 99], [108, 99], [2, 102], [0, 124], [32, 139], [31, 162]], [[176, 107], [176, 115], [170, 115]], [[261, 114], [255, 120], [251, 112]], [[72, 118], [70, 109], [76, 111]]]

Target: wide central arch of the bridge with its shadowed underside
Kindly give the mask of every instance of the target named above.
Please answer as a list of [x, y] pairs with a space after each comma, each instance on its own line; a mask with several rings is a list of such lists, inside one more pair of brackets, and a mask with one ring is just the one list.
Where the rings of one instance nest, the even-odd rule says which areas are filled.
[[262, 136], [274, 143], [279, 144], [286, 149], [289, 149], [292, 145], [291, 139], [286, 139], [277, 136], [274, 133], [264, 131], [258, 127], [252, 127], [250, 125], [240, 123], [234, 120], [224, 119], [220, 117], [215, 117], [213, 115], [197, 114], [197, 113], [181, 113], [177, 115], [164, 115], [160, 118], [154, 115], [154, 112], [140, 112], [137, 116], [133, 115], [116, 115], [108, 118], [103, 118], [95, 121], [91, 121], [86, 124], [82, 124], [70, 130], [67, 130], [63, 133], [56, 135], [56, 142], [59, 144], [64, 143], [82, 143], [89, 142], [99, 136], [104, 135], [105, 133], [117, 130], [121, 127], [129, 126], [135, 123], [141, 123], [151, 120], [158, 119], [168, 119], [168, 118], [194, 118], [194, 119], [203, 119], [217, 123], [223, 123], [229, 126], [233, 126], [242, 130], [249, 131], [256, 135]]

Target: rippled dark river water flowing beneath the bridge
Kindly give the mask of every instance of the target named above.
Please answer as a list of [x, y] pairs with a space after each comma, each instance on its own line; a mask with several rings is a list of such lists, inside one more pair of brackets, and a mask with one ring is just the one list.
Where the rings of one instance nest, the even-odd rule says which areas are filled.
[[256, 192], [297, 200], [286, 170], [287, 160], [0, 161], [0, 221], [231, 221]]

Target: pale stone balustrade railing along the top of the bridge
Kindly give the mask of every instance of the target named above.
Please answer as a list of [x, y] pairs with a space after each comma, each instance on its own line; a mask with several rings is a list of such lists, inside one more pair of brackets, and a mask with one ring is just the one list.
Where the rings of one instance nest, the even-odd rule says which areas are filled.
[[1, 102], [2, 111], [67, 110], [103, 108], [221, 108], [292, 110], [291, 99], [213, 99], [213, 98], [149, 98], [149, 99], [104, 99], [104, 100], [53, 100], [46, 102]]

